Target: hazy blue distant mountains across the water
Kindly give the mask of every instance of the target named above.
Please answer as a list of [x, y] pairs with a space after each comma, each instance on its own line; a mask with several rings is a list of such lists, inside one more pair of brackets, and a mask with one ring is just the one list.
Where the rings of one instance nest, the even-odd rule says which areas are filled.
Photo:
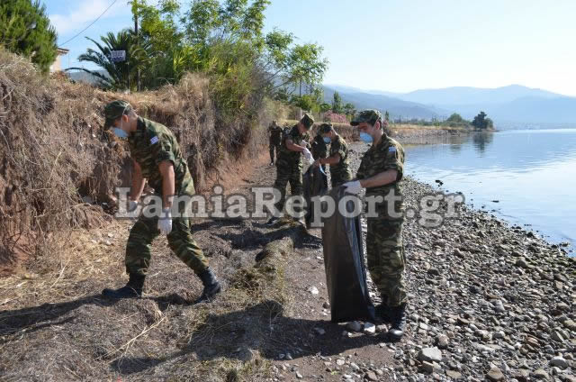
[[429, 120], [458, 113], [471, 120], [482, 110], [497, 127], [499, 123], [503, 126], [514, 123], [576, 124], [576, 97], [527, 86], [492, 89], [456, 86], [401, 94], [331, 85], [325, 87], [327, 102], [332, 101], [335, 89], [345, 102], [351, 102], [358, 109], [374, 107], [388, 110], [394, 116]]

